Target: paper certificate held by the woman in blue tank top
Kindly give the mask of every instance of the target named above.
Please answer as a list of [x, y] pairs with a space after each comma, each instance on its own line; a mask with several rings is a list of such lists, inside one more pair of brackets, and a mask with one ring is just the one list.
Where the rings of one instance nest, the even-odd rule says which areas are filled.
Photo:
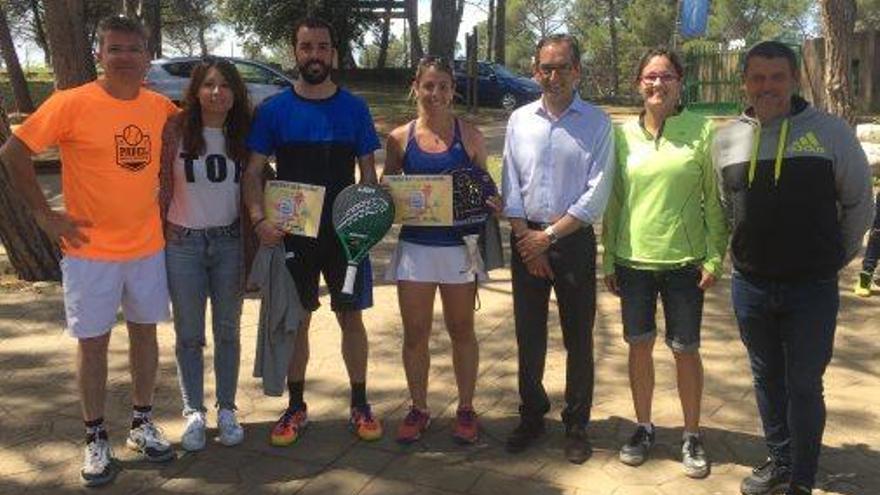
[[452, 225], [452, 176], [386, 175], [394, 198], [394, 223]]

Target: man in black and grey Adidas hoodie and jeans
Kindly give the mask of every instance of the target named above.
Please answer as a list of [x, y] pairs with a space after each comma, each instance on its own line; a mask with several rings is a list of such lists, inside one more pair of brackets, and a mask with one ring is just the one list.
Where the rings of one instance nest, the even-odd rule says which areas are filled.
[[837, 272], [873, 217], [870, 172], [852, 128], [794, 95], [794, 52], [746, 55], [750, 107], [720, 129], [715, 165], [732, 220], [733, 307], [749, 353], [770, 458], [746, 495], [810, 493], [837, 324]]

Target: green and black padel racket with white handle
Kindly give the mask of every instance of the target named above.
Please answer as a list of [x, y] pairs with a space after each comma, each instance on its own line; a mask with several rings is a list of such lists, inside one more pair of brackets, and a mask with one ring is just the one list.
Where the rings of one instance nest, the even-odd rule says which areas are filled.
[[394, 200], [379, 186], [353, 184], [333, 201], [333, 227], [348, 260], [343, 294], [354, 293], [358, 264], [394, 221]]

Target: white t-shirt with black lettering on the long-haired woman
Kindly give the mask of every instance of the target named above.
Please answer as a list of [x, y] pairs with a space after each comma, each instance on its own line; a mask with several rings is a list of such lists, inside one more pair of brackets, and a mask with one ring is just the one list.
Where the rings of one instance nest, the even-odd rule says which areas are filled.
[[223, 129], [205, 127], [205, 153], [189, 156], [183, 142], [174, 161], [168, 221], [191, 229], [222, 227], [239, 215], [241, 164], [226, 156]]

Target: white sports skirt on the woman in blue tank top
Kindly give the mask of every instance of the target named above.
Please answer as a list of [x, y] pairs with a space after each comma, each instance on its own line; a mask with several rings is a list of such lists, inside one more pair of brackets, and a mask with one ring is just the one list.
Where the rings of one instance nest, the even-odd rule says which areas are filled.
[[[479, 253], [476, 256], [479, 258]], [[488, 280], [482, 260], [477, 259], [476, 264], [477, 268], [471, 271], [465, 246], [425, 246], [399, 241], [385, 272], [385, 280], [467, 284], [474, 283], [474, 273], [479, 281]]]

